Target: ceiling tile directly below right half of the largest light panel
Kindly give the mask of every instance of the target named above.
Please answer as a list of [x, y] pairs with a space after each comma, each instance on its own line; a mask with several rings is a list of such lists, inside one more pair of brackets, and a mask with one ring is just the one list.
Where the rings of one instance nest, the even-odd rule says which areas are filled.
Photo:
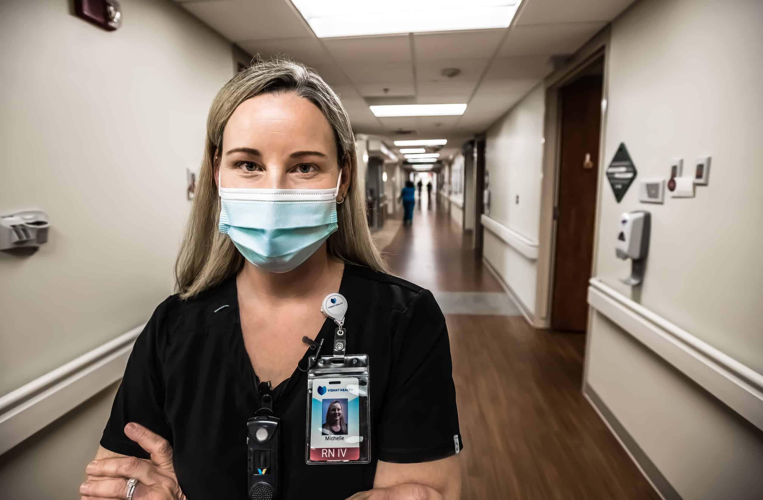
[[416, 60], [485, 59], [493, 56], [506, 30], [414, 34]]

